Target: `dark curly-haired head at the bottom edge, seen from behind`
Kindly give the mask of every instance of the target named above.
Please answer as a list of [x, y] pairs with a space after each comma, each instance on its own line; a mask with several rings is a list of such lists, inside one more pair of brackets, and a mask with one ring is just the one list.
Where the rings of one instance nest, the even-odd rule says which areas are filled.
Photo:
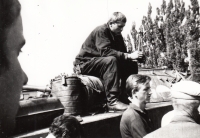
[[81, 124], [74, 116], [58, 116], [51, 124], [47, 138], [83, 138]]

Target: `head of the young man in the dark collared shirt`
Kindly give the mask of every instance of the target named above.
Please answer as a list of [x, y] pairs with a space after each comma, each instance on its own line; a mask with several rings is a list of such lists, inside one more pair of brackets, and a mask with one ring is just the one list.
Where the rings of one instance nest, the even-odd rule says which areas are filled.
[[150, 100], [150, 81], [151, 78], [146, 75], [130, 75], [126, 80], [126, 93], [129, 100], [144, 110], [146, 103]]

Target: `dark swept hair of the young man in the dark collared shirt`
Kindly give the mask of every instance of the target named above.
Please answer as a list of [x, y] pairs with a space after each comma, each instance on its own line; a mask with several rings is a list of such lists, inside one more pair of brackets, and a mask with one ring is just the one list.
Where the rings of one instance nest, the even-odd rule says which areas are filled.
[[126, 93], [132, 97], [132, 93], [136, 93], [140, 90], [140, 84], [146, 85], [151, 81], [151, 78], [146, 75], [130, 75], [126, 80]]

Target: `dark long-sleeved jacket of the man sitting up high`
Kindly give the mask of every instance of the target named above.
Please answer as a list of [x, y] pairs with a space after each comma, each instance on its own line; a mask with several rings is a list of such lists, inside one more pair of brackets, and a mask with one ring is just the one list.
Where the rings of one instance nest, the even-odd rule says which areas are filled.
[[126, 46], [122, 35], [115, 35], [107, 24], [95, 28], [83, 43], [74, 65], [87, 62], [93, 57], [114, 56], [127, 59]]

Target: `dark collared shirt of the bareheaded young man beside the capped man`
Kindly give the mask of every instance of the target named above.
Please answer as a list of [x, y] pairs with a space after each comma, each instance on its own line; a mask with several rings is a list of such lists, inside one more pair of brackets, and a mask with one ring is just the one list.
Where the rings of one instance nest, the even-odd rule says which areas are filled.
[[121, 118], [120, 132], [122, 138], [143, 138], [151, 130], [151, 121], [147, 112], [131, 103]]

